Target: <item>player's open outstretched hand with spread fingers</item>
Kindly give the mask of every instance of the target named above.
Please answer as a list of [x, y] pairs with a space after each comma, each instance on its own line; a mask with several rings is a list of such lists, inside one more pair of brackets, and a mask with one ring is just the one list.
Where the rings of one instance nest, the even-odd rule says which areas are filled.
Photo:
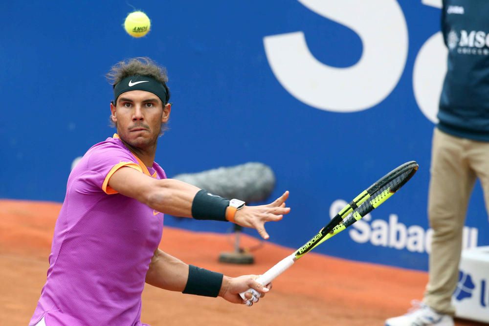
[[289, 191], [267, 205], [244, 206], [236, 211], [234, 222], [244, 227], [254, 228], [263, 239], [268, 239], [265, 222], [279, 221], [285, 214], [289, 214], [290, 207], [285, 207], [287, 198], [289, 198]]

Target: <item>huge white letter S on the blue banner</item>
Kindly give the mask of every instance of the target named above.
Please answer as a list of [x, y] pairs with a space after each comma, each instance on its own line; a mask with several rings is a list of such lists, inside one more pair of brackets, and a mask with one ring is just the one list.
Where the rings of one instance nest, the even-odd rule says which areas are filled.
[[[355, 65], [336, 68], [313, 57], [303, 32], [267, 36], [267, 60], [280, 84], [298, 100], [327, 111], [355, 112], [383, 101], [396, 87], [407, 58], [407, 26], [398, 2], [299, 2], [352, 29], [363, 43], [363, 53]], [[341, 49], [325, 44], [325, 50]]]

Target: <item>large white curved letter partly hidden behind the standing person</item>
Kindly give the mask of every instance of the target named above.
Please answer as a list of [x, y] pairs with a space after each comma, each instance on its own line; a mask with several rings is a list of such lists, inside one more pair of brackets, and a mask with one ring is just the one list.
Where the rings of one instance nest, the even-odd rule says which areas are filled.
[[438, 122], [436, 114], [446, 74], [447, 54], [443, 34], [438, 32], [423, 44], [414, 62], [414, 97], [421, 112], [434, 123]]

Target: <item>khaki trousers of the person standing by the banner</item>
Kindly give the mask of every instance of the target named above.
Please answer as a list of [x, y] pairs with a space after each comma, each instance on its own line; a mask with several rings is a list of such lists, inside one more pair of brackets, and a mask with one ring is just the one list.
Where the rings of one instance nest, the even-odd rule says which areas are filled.
[[457, 286], [462, 230], [476, 178], [489, 211], [489, 142], [459, 138], [435, 128], [431, 153], [428, 217], [433, 228], [429, 281], [423, 302], [449, 315]]

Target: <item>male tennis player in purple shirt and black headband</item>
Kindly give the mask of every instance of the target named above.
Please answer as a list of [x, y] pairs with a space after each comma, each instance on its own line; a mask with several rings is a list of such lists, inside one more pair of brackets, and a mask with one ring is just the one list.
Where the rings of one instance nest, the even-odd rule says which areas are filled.
[[223, 276], [159, 250], [163, 213], [234, 221], [267, 239], [264, 223], [289, 213], [288, 192], [268, 205], [246, 206], [166, 178], [154, 162], [171, 111], [166, 73], [136, 58], [114, 65], [108, 77], [117, 134], [91, 147], [69, 175], [47, 281], [30, 325], [144, 325], [145, 282], [232, 303], [243, 303], [239, 293], [248, 288], [267, 292], [270, 285], [253, 276]]

